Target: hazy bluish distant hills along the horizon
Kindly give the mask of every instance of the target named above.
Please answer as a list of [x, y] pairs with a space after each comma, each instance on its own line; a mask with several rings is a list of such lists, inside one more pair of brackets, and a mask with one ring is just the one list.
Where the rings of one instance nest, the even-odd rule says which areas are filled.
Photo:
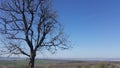
[[[26, 60], [21, 57], [0, 57], [0, 60]], [[120, 58], [36, 58], [38, 60], [51, 61], [120, 61]]]

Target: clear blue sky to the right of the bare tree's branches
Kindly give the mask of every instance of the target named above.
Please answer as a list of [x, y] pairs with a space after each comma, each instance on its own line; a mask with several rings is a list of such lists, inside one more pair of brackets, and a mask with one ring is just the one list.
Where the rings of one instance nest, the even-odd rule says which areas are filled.
[[120, 0], [54, 0], [73, 48], [48, 57], [120, 58]]

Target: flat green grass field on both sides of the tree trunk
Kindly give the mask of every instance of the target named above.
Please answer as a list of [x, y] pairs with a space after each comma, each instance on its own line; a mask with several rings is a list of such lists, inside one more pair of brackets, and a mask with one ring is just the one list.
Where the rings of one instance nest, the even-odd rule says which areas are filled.
[[[55, 61], [49, 61], [49, 60], [36, 60], [35, 65], [40, 64], [52, 64], [56, 63]], [[0, 60], [0, 66], [12, 66], [15, 68], [28, 68], [29, 61], [27, 60]]]

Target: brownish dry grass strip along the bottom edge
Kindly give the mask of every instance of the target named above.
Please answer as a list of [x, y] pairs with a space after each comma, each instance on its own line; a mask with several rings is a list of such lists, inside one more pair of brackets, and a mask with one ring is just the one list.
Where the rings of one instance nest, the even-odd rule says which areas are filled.
[[[3, 65], [0, 68], [29, 68], [23, 65]], [[53, 64], [37, 64], [35, 68], [120, 68], [119, 62], [63, 62]]]

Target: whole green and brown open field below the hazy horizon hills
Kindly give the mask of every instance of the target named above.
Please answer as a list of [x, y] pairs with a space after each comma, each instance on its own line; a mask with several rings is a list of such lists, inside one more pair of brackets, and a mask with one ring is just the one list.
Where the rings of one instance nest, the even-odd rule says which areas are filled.
[[[28, 68], [28, 61], [0, 60], [0, 68]], [[36, 68], [120, 68], [120, 62], [37, 60]]]

